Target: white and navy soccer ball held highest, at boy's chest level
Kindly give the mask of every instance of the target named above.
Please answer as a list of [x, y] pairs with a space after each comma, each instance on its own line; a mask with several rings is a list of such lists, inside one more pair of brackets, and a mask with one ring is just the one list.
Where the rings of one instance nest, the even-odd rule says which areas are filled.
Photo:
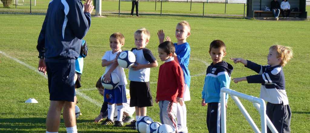
[[119, 54], [117, 62], [122, 68], [129, 68], [135, 64], [135, 54], [131, 51], [125, 50]]

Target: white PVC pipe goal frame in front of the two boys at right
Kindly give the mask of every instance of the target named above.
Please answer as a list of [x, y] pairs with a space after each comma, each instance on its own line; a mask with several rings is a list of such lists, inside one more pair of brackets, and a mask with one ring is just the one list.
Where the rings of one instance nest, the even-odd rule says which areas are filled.
[[[273, 126], [272, 122], [266, 115], [266, 104], [265, 101], [261, 98], [253, 97], [250, 95], [246, 95], [240, 92], [236, 92], [229, 88], [221, 88], [221, 132], [226, 133], [226, 107], [224, 106], [226, 103], [225, 97], [226, 93], [229, 94], [229, 96], [232, 98], [233, 101], [237, 104], [238, 108], [240, 109], [243, 116], [246, 118], [246, 121], [249, 122], [252, 129], [255, 131], [255, 133], [267, 133], [267, 126], [272, 131], [272, 133], [278, 133], [276, 128]], [[247, 101], [251, 101], [254, 105], [254, 107], [258, 110], [260, 114], [260, 124], [261, 124], [261, 131], [259, 131], [258, 127], [256, 126], [255, 122], [249, 115], [249, 113], [246, 111], [242, 103], [240, 102], [239, 98], [245, 99]]]

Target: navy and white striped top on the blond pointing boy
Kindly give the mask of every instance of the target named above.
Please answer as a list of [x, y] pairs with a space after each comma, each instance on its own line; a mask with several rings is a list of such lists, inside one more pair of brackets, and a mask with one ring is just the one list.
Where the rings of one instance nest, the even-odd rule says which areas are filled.
[[258, 73], [258, 75], [247, 76], [248, 83], [261, 83], [260, 98], [273, 104], [288, 105], [289, 101], [285, 91], [285, 79], [280, 65], [271, 67], [262, 66], [247, 61], [247, 68]]

